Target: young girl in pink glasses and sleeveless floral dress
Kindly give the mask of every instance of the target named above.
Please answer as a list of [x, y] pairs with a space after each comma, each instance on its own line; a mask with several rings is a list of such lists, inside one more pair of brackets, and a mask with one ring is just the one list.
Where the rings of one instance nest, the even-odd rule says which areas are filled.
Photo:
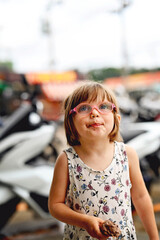
[[[131, 197], [150, 240], [158, 231], [136, 152], [119, 133], [113, 93], [87, 82], [65, 100], [65, 132], [70, 147], [56, 161], [49, 211], [65, 222], [64, 239], [106, 239], [100, 227], [116, 223], [118, 239], [137, 239]], [[107, 239], [115, 239], [109, 237]]]

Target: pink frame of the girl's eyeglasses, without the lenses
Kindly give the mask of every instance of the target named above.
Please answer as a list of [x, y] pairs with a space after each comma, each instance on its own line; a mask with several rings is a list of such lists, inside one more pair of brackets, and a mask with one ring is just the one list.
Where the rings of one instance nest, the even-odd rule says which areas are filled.
[[[101, 105], [101, 104], [103, 104], [103, 103], [110, 103], [111, 104], [111, 110], [110, 111], [108, 111], [108, 112], [101, 112], [99, 109], [98, 109], [98, 106], [99, 105]], [[91, 111], [89, 112], [89, 113], [86, 113], [86, 114], [81, 114], [81, 113], [79, 113], [78, 111], [77, 111], [77, 107], [78, 106], [80, 106], [80, 105], [84, 105], [84, 104], [87, 104], [87, 105], [89, 105], [90, 107], [91, 107]], [[93, 111], [93, 109], [96, 109], [100, 114], [103, 114], [103, 115], [106, 115], [106, 114], [108, 114], [109, 112], [112, 112], [113, 110], [115, 110], [116, 111], [116, 106], [115, 106], [115, 104], [114, 103], [111, 103], [111, 102], [100, 102], [99, 104], [96, 104], [96, 105], [91, 105], [91, 104], [89, 104], [89, 103], [86, 103], [86, 102], [82, 102], [82, 103], [79, 103], [76, 107], [74, 107], [73, 109], [71, 109], [70, 110], [70, 112], [69, 112], [69, 115], [71, 115], [72, 113], [77, 113], [77, 114], [80, 114], [80, 115], [89, 115], [89, 114], [91, 114], [92, 113], [92, 111]]]

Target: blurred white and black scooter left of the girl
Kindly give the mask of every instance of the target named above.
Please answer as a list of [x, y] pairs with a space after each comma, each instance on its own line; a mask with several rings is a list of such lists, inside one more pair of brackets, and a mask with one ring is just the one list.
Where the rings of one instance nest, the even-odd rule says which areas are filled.
[[[42, 218], [50, 218], [48, 194], [54, 163], [44, 158], [52, 145], [58, 123], [45, 121], [39, 114], [36, 97], [22, 101], [0, 126], [0, 229], [24, 200]], [[53, 154], [57, 157], [57, 151]]]

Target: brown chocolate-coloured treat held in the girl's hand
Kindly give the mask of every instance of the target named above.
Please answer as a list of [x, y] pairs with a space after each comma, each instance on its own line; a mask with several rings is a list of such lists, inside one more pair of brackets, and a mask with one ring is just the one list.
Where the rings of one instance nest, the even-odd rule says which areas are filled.
[[118, 225], [110, 220], [106, 220], [100, 227], [101, 232], [107, 237], [118, 238], [121, 235], [121, 230]]

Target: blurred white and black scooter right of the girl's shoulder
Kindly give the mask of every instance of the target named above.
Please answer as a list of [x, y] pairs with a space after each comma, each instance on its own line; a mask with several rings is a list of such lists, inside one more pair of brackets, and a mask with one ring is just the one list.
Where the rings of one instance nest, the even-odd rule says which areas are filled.
[[160, 174], [160, 122], [125, 123], [121, 126], [124, 142], [132, 146], [139, 157], [147, 189]]

